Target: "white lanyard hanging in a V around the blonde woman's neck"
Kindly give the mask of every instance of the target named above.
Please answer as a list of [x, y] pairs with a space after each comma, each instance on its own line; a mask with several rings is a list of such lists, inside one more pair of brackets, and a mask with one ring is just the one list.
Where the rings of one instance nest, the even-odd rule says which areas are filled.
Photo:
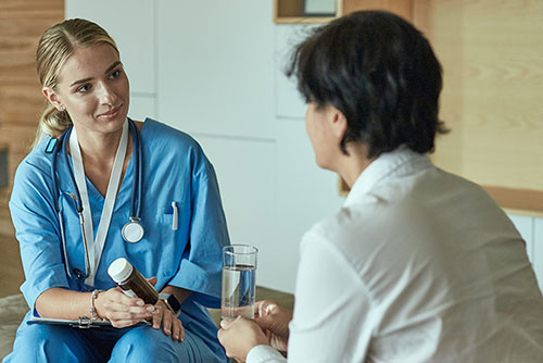
[[87, 241], [88, 251], [85, 251], [85, 253], [89, 254], [90, 264], [90, 266], [88, 266], [89, 276], [85, 279], [85, 284], [87, 284], [88, 286], [94, 286], [94, 276], [100, 263], [100, 258], [102, 256], [105, 236], [108, 235], [108, 230], [110, 229], [111, 215], [113, 214], [113, 206], [115, 205], [115, 199], [117, 197], [117, 190], [121, 182], [121, 173], [123, 172], [123, 164], [125, 161], [127, 145], [128, 122], [125, 122], [123, 125], [121, 141], [118, 142], [117, 147], [117, 153], [115, 154], [115, 161], [113, 162], [113, 167], [111, 170], [111, 176], [108, 183], [108, 191], [105, 192], [105, 201], [103, 204], [102, 215], [100, 217], [100, 224], [98, 226], [97, 237], [94, 239], [92, 238], [94, 236], [94, 228], [92, 226], [92, 213], [90, 211], [89, 196], [87, 193], [85, 168], [83, 166], [81, 150], [79, 149], [79, 141], [77, 140], [77, 133], [75, 130], [75, 127], [72, 129], [72, 136], [70, 137], [70, 150], [74, 164], [75, 183], [81, 196], [84, 228], [87, 238], [89, 238], [89, 240]]

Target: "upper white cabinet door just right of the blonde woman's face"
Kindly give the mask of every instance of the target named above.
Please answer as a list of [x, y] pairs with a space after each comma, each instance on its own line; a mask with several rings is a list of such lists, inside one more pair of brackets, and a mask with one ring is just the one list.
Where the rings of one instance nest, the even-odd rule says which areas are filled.
[[159, 116], [190, 133], [273, 138], [272, 1], [156, 4]]

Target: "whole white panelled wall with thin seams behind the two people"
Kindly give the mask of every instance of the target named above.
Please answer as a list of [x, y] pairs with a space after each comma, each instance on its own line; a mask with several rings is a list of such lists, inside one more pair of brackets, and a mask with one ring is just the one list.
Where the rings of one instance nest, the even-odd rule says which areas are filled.
[[[319, 170], [305, 105], [282, 70], [311, 28], [275, 25], [272, 1], [66, 0], [102, 25], [130, 78], [130, 115], [190, 133], [215, 165], [232, 243], [260, 249], [257, 283], [293, 291], [299, 241], [341, 205]], [[543, 220], [512, 216], [543, 281]]]

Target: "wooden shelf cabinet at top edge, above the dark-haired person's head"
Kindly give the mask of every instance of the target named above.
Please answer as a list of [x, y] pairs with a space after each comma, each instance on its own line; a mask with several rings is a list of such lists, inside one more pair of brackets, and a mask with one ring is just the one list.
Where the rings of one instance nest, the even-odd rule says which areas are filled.
[[413, 18], [413, 0], [336, 0], [336, 16], [303, 16], [303, 0], [274, 0], [277, 24], [327, 23], [358, 10], [387, 10], [407, 20]]

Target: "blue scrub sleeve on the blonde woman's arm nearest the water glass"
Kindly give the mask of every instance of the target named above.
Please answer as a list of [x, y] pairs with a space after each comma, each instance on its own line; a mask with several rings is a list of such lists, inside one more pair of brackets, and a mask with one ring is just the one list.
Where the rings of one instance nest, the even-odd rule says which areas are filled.
[[191, 299], [220, 308], [223, 247], [229, 238], [215, 171], [203, 153], [202, 158], [192, 177], [189, 247], [169, 285], [190, 286]]

